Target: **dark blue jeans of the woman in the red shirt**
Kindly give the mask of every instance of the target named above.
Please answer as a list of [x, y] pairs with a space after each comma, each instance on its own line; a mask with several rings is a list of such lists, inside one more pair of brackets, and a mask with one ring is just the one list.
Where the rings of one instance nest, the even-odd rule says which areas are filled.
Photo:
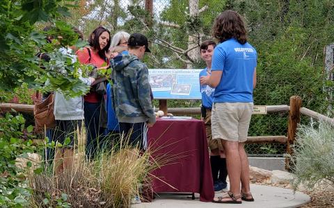
[[100, 127], [101, 103], [84, 102], [85, 127], [87, 133], [86, 157], [94, 159], [97, 152], [103, 150], [105, 128]]

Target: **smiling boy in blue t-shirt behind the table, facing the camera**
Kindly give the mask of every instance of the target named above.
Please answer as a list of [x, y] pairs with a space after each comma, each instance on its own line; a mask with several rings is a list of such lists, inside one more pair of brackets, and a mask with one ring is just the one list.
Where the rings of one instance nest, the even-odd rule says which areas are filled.
[[[212, 40], [202, 42], [200, 45], [200, 56], [205, 61], [207, 67], [200, 71], [200, 77], [211, 74], [212, 54], [216, 43]], [[205, 130], [207, 132], [207, 144], [210, 149], [210, 164], [212, 171], [212, 179], [214, 180], [214, 192], [228, 191], [226, 177], [228, 171], [226, 169], [225, 155], [220, 155], [219, 147], [222, 148], [220, 140], [212, 139], [211, 131], [211, 110], [212, 100], [214, 98], [214, 88], [209, 85], [200, 85], [200, 93], [202, 94], [202, 121], [205, 123]], [[222, 157], [221, 157], [222, 156]]]

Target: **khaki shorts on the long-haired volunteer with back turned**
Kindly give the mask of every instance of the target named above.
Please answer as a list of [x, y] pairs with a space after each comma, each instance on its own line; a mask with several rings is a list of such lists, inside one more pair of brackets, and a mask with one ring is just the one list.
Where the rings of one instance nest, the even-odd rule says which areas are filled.
[[214, 103], [212, 106], [212, 137], [226, 141], [247, 140], [253, 103]]

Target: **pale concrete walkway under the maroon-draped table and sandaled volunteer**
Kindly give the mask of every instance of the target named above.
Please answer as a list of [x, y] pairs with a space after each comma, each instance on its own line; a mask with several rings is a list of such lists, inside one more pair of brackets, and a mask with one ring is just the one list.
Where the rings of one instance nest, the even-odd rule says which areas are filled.
[[[212, 202], [200, 202], [198, 194], [196, 199], [191, 200], [191, 196], [164, 195], [159, 196], [150, 203], [132, 205], [134, 208], [237, 208], [237, 207], [301, 207], [310, 201], [310, 197], [304, 193], [294, 193], [291, 189], [278, 187], [268, 187], [257, 184], [250, 184], [255, 202], [242, 202], [241, 205], [216, 204]], [[222, 193], [216, 193], [221, 196]]]

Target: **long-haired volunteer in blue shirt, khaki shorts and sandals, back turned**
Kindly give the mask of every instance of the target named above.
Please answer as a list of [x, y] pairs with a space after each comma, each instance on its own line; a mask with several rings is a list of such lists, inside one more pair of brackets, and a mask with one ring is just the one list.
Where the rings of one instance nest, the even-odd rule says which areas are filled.
[[202, 77], [200, 82], [216, 88], [212, 137], [222, 141], [230, 179], [228, 195], [214, 198], [213, 202], [240, 204], [241, 199], [254, 200], [244, 142], [253, 112], [257, 53], [247, 42], [244, 21], [237, 12], [222, 12], [214, 22], [213, 34], [220, 44], [214, 49], [212, 74]]

